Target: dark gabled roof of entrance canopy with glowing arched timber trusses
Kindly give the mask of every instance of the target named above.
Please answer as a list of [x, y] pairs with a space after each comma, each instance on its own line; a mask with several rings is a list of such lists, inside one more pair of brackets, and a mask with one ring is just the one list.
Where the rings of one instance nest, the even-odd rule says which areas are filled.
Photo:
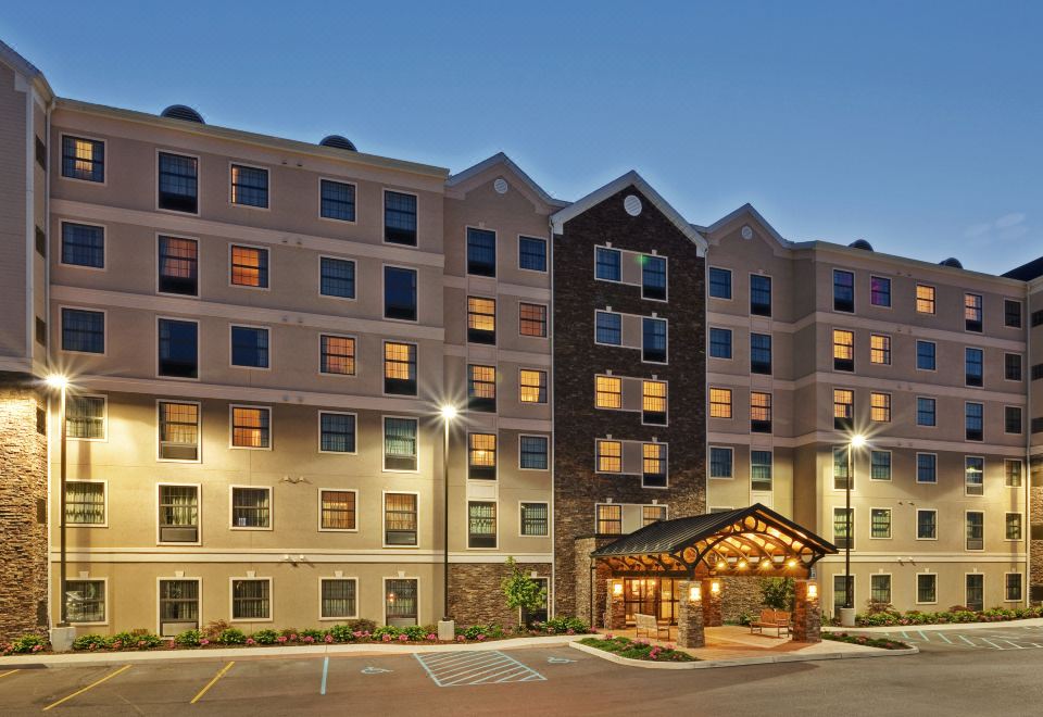
[[747, 508], [661, 520], [590, 554], [616, 576], [806, 577], [837, 552], [819, 538], [759, 503]]

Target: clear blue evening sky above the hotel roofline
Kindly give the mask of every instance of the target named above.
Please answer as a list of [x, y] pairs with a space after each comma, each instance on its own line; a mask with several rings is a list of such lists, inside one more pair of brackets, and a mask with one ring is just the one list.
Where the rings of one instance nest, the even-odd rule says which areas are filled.
[[638, 169], [690, 221], [1003, 272], [1043, 254], [1043, 3], [9, 3], [55, 91], [578, 199]]

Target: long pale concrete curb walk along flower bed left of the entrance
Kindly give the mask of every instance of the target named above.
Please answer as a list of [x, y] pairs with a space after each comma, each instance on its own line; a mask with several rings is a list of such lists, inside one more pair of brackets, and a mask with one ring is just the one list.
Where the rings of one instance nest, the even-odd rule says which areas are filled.
[[570, 644], [589, 634], [561, 634], [545, 638], [508, 638], [469, 644], [365, 644], [291, 645], [288, 647], [218, 647], [215, 650], [155, 650], [152, 652], [77, 652], [62, 655], [9, 655], [0, 657], [0, 667], [70, 667], [126, 665], [184, 659], [271, 659], [273, 657], [336, 655], [410, 655], [426, 652], [482, 652]]

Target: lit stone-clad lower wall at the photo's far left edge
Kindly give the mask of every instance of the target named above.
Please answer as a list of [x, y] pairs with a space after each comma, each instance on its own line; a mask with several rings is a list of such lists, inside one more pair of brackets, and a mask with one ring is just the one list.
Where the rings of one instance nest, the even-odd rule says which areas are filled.
[[0, 642], [48, 629], [45, 406], [25, 379], [0, 374]]

